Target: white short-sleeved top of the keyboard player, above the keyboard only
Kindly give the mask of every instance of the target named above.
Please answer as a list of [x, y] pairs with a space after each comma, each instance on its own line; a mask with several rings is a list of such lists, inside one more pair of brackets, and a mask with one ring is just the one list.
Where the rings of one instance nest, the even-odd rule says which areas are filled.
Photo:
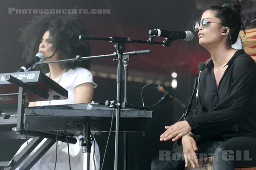
[[[49, 76], [49, 73], [47, 73], [46, 75]], [[53, 79], [53, 80], [55, 82], [58, 82], [59, 78]], [[74, 104], [75, 103], [75, 87], [86, 82], [93, 83], [94, 88], [98, 86], [95, 82], [93, 82], [93, 75], [86, 68], [77, 67], [75, 69], [69, 69], [69, 71], [63, 74], [61, 82], [59, 83], [59, 85], [61, 85], [63, 88], [65, 88], [68, 91], [68, 99], [52, 100], [51, 102], [49, 101], [36, 102], [35, 106], [49, 105], [49, 103], [50, 105]]]

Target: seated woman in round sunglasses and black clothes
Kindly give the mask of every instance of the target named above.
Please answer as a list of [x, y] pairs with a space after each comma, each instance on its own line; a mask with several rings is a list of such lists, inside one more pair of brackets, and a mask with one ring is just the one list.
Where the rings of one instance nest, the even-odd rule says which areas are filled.
[[182, 147], [157, 156], [151, 170], [182, 170], [188, 162], [195, 168], [199, 158], [211, 156], [215, 170], [256, 166], [256, 63], [231, 48], [241, 27], [239, 0], [206, 8], [194, 24], [199, 44], [211, 54], [198, 105], [192, 116], [165, 127], [160, 141], [181, 139]]

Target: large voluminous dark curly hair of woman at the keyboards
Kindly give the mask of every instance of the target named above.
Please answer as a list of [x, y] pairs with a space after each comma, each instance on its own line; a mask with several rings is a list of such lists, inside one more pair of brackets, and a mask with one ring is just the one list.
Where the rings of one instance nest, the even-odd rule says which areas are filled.
[[[41, 38], [44, 33], [49, 31], [52, 37], [53, 49], [58, 49], [62, 54], [59, 59], [90, 56], [91, 49], [87, 41], [79, 40], [79, 35], [87, 35], [84, 20], [75, 14], [53, 15], [41, 14], [34, 16], [28, 22], [26, 28], [22, 29], [20, 41], [24, 43], [25, 50], [23, 58], [29, 59], [38, 52]], [[47, 56], [46, 56], [47, 57]], [[90, 60], [61, 63], [62, 68], [90, 68]]]

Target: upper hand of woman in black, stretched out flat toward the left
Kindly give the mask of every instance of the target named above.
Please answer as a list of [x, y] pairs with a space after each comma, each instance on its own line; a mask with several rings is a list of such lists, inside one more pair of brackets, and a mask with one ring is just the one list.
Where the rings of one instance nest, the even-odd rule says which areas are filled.
[[186, 120], [177, 122], [171, 126], [166, 126], [165, 128], [166, 131], [160, 136], [160, 141], [168, 141], [173, 138], [172, 141], [174, 142], [192, 130]]

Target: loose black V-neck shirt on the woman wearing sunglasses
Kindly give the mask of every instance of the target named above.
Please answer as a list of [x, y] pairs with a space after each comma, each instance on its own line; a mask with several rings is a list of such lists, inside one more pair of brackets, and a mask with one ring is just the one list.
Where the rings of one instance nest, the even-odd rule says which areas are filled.
[[236, 135], [256, 136], [256, 63], [238, 50], [216, 87], [213, 62], [202, 71], [198, 105], [186, 118], [192, 133], [226, 140]]

